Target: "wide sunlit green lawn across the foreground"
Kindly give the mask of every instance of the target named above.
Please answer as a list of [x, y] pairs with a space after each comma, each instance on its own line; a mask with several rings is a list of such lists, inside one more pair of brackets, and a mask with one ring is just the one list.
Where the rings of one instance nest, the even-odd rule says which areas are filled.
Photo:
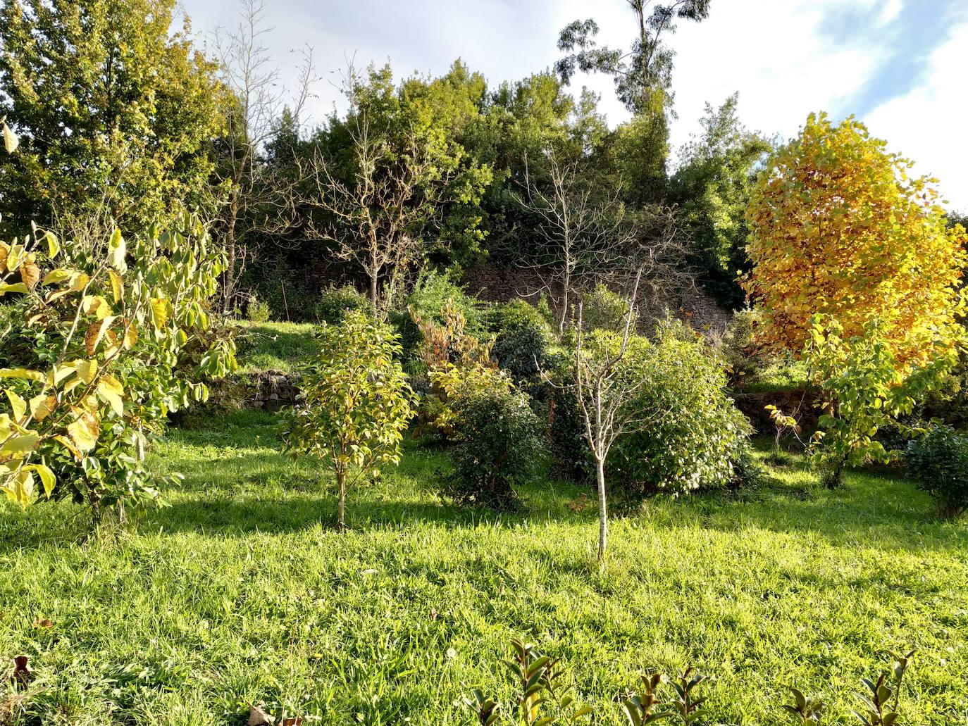
[[273, 426], [172, 431], [153, 452], [186, 474], [171, 506], [101, 539], [71, 504], [0, 505], [0, 653], [31, 658], [29, 723], [243, 724], [262, 703], [305, 724], [467, 724], [471, 688], [509, 695], [515, 636], [564, 659], [597, 723], [622, 722], [642, 669], [686, 664], [714, 676], [713, 723], [785, 721], [789, 683], [847, 723], [858, 679], [907, 648], [904, 723], [968, 706], [968, 526], [903, 480], [851, 472], [831, 493], [793, 457], [759, 489], [652, 500], [613, 520], [599, 575], [581, 487], [459, 511], [436, 494], [445, 457], [411, 447], [337, 533]]

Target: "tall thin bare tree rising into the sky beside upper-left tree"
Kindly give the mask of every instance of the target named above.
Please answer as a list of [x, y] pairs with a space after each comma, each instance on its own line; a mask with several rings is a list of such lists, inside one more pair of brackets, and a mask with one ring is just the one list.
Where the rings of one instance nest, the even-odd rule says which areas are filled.
[[[313, 50], [302, 50], [296, 88], [291, 95], [279, 77], [264, 37], [266, 9], [257, 0], [242, 0], [242, 17], [233, 31], [216, 31], [215, 47], [223, 81], [230, 98], [227, 108], [225, 148], [221, 149], [219, 175], [226, 199], [220, 222], [224, 229], [226, 270], [222, 300], [228, 312], [238, 291], [250, 250], [247, 239], [254, 234], [281, 234], [296, 222], [298, 176], [284, 176], [259, 159], [259, 154], [282, 129], [284, 112], [296, 130], [312, 85], [316, 80]], [[297, 169], [298, 166], [294, 166]]]

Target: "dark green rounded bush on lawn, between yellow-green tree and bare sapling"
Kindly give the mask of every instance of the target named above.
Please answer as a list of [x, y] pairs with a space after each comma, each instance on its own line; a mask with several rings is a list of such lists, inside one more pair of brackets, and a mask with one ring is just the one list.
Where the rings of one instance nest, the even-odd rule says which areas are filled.
[[541, 461], [539, 421], [528, 396], [505, 375], [470, 380], [477, 386], [452, 404], [457, 445], [446, 494], [462, 504], [506, 508]]

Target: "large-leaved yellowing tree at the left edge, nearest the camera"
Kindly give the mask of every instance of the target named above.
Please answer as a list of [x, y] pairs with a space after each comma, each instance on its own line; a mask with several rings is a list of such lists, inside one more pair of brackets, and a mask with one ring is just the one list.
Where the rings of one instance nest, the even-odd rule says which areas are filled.
[[[3, 126], [7, 148], [14, 136]], [[73, 496], [104, 508], [158, 496], [146, 434], [204, 400], [197, 376], [234, 368], [234, 345], [210, 330], [222, 256], [183, 215], [126, 240], [61, 245], [52, 232], [0, 242], [0, 491], [26, 505]]]

